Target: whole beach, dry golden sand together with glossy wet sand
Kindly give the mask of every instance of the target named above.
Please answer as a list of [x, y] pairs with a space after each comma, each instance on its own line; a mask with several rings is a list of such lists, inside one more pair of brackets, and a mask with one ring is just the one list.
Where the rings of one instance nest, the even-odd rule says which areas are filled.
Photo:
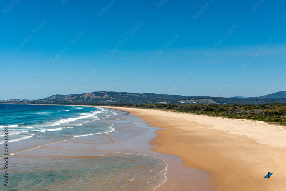
[[[94, 161], [90, 157], [106, 153], [139, 154], [143, 158], [151, 156], [150, 160], [161, 159], [167, 165], [167, 180], [159, 183], [156, 191], [285, 190], [284, 126], [164, 110], [107, 106], [102, 108], [120, 110], [116, 116], [121, 116], [123, 120], [118, 120], [118, 117], [106, 118], [106, 123], [116, 124], [120, 131], [107, 135], [78, 137], [19, 152], [12, 158], [14, 166], [25, 169], [23, 164], [29, 164], [30, 157], [41, 157], [43, 164], [50, 163], [51, 159], [55, 163], [59, 159], [66, 160], [69, 164], [72, 163], [69, 162], [70, 159], [79, 160], [84, 156], [86, 161], [82, 164], [89, 164]], [[133, 125], [134, 122], [139, 124], [138, 129], [132, 131], [129, 136], [132, 120]], [[96, 121], [90, 122], [93, 123]], [[125, 135], [128, 135], [128, 138], [118, 142]], [[55, 158], [54, 153], [64, 144], [70, 146], [59, 159]], [[115, 144], [119, 144], [119, 147], [114, 147]], [[25, 160], [27, 162], [23, 163]], [[153, 159], [151, 161], [153, 162]], [[151, 165], [148, 161], [145, 162], [147, 163], [143, 164], [142, 160], [140, 165]], [[263, 178], [268, 171], [273, 173], [271, 178]], [[91, 176], [88, 179], [94, 180]], [[73, 184], [76, 190], [92, 190], [88, 186], [89, 182], [69, 184]]]

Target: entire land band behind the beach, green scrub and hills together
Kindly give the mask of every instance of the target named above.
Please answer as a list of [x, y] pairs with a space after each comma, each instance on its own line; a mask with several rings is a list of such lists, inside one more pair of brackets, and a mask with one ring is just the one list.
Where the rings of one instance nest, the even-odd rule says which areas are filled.
[[13, 100], [11, 103], [124, 106], [172, 110], [228, 118], [251, 119], [286, 125], [286, 91], [279, 91], [253, 98], [221, 98], [155, 93], [95, 91], [82, 94], [52, 95], [44, 99], [33, 101], [18, 101], [19, 100]]

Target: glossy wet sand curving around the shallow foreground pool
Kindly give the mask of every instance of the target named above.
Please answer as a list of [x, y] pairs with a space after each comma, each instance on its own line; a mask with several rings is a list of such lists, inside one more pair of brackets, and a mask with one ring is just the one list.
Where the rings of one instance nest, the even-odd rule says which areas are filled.
[[[123, 111], [123, 113], [123, 115], [129, 114], [129, 112], [125, 111]], [[137, 116], [134, 117], [138, 118]], [[134, 117], [132, 116], [132, 119], [134, 119]], [[120, 121], [128, 123], [128, 120], [124, 122], [124, 119], [114, 121], [114, 119], [108, 120], [108, 118], [105, 122], [120, 125]], [[96, 121], [88, 123], [92, 124], [96, 123]], [[168, 165], [168, 172], [165, 174], [168, 179], [164, 183], [162, 182], [163, 184], [161, 183], [162, 185], [156, 188], [156, 190], [212, 190], [212, 186], [208, 184], [208, 181], [211, 179], [210, 173], [195, 169], [192, 165], [182, 166], [183, 160], [178, 156], [161, 154], [160, 151], [154, 152], [150, 150], [150, 142], [156, 136], [154, 132], [160, 128], [148, 126], [148, 124], [141, 122], [141, 119], [138, 118], [135, 129], [136, 131], [133, 132], [130, 131], [129, 127], [126, 127], [120, 131], [108, 133], [107, 135], [82, 136], [67, 141], [47, 144], [32, 150], [15, 153], [11, 156], [11, 159], [13, 159], [13, 165], [23, 171], [23, 169], [28, 170], [31, 166], [42, 166], [46, 168], [47, 164], [57, 164], [58, 160], [63, 162], [66, 160], [67, 163], [69, 163], [69, 161], [73, 159], [88, 159], [89, 157], [103, 155], [109, 152], [140, 154], [150, 156], [149, 159], [151, 161], [154, 160], [154, 157], [160, 158]], [[128, 131], [132, 133], [129, 135]], [[126, 135], [128, 135], [128, 138], [124, 138], [123, 142], [118, 142], [120, 138]], [[119, 146], [115, 146], [116, 144]], [[59, 153], [59, 149], [63, 149], [63, 146], [65, 147], [64, 152]], [[55, 154], [57, 156], [55, 156]], [[31, 158], [40, 159], [39, 164], [29, 164]], [[29, 164], [29, 168], [23, 167], [24, 164]], [[192, 184], [190, 184], [190, 182], [192, 182]], [[80, 190], [77, 184], [73, 183], [73, 187], [76, 187], [76, 190]], [[89, 190], [88, 187], [85, 188], [85, 190]], [[113, 190], [113, 188], [106, 188], [106, 190]]]

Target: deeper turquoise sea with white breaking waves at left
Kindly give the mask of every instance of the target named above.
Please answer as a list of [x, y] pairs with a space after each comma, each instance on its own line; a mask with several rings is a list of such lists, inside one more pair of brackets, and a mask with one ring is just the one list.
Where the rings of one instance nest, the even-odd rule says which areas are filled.
[[[85, 136], [114, 131], [112, 124], [83, 126], [110, 115], [115, 113], [94, 107], [0, 104], [0, 128], [9, 126], [9, 142], [47, 135]], [[0, 144], [3, 142], [0, 140]]]

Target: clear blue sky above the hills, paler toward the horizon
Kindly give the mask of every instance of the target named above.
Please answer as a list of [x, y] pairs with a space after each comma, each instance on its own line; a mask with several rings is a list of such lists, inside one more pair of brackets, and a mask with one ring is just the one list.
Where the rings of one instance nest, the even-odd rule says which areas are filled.
[[0, 100], [286, 90], [285, 6], [282, 0], [3, 0]]

